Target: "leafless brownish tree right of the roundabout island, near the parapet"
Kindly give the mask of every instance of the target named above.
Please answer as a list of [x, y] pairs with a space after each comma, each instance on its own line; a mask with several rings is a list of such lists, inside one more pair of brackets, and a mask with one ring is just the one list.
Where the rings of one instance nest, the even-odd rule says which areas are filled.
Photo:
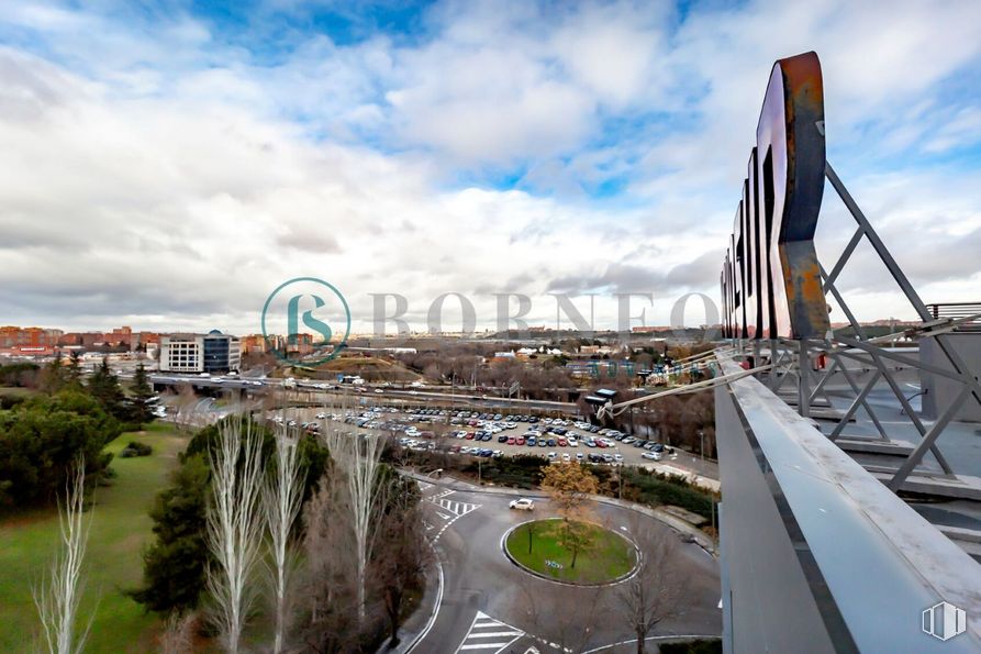
[[616, 587], [615, 608], [637, 639], [637, 654], [654, 629], [688, 609], [688, 579], [675, 561], [673, 532], [647, 520], [631, 520], [629, 532], [639, 551], [637, 574]]

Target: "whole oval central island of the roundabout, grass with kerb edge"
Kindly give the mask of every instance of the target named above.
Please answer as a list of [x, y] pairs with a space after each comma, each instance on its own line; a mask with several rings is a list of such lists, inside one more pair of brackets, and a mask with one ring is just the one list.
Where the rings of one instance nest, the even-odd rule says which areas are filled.
[[605, 586], [637, 569], [637, 547], [600, 524], [560, 518], [531, 520], [502, 539], [504, 555], [524, 572], [561, 584]]

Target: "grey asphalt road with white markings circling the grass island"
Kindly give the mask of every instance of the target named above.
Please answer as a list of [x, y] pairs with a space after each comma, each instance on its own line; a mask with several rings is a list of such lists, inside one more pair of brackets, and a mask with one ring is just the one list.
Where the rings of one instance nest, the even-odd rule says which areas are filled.
[[[412, 650], [428, 652], [580, 652], [633, 638], [618, 613], [616, 588], [589, 589], [534, 577], [504, 555], [501, 543], [513, 526], [529, 519], [509, 510], [514, 496], [471, 485], [424, 485], [428, 532], [436, 541], [444, 587], [432, 629]], [[546, 500], [534, 518], [554, 516]], [[627, 509], [597, 503], [595, 514], [613, 529], [643, 519], [665, 537], [678, 535], [667, 525]], [[658, 625], [656, 634], [718, 635], [722, 632], [717, 562], [695, 544], [679, 539], [673, 565], [689, 580], [689, 608]], [[528, 598], [532, 598], [528, 600]], [[588, 628], [588, 629], [587, 629]], [[604, 652], [636, 651], [621, 644]]]

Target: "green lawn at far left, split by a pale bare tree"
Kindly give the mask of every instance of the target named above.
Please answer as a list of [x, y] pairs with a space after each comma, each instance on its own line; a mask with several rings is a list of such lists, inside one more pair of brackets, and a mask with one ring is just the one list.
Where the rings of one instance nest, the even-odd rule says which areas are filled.
[[[93, 614], [86, 652], [154, 651], [157, 619], [122, 590], [138, 585], [143, 576], [143, 546], [149, 541], [153, 499], [177, 465], [186, 437], [169, 425], [152, 424], [144, 432], [121, 435], [107, 447], [118, 453], [130, 441], [153, 446], [151, 456], [115, 458], [118, 476], [112, 486], [96, 491], [94, 518], [86, 554], [86, 587], [81, 616]], [[54, 509], [0, 519], [0, 652], [31, 650], [40, 635], [31, 586], [40, 580], [58, 542]]]

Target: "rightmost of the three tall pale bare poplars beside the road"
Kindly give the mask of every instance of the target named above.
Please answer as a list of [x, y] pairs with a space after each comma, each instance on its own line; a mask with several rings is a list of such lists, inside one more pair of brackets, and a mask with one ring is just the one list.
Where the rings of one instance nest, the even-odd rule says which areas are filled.
[[[346, 411], [341, 411], [342, 414]], [[383, 448], [383, 439], [376, 433], [358, 433], [347, 431], [344, 424], [334, 421], [324, 425], [323, 439], [331, 458], [334, 461], [334, 473], [343, 479], [346, 490], [344, 507], [349, 511], [350, 526], [354, 532], [354, 545], [357, 574], [357, 609], [358, 620], [365, 618], [366, 574], [368, 559], [371, 556], [372, 511], [377, 505], [378, 485], [376, 477], [379, 459]]]

